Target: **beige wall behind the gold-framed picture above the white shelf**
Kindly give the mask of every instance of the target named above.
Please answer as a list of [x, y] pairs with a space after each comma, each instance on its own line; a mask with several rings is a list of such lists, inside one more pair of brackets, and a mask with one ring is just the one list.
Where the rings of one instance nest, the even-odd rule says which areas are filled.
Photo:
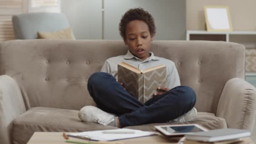
[[186, 0], [187, 29], [205, 29], [205, 5], [229, 6], [233, 30], [256, 30], [256, 0]]

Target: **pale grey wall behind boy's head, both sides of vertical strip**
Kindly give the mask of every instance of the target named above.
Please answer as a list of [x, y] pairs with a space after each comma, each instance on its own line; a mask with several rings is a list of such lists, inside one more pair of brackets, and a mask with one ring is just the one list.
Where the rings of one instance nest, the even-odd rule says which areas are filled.
[[121, 16], [130, 8], [141, 7], [155, 18], [155, 40], [185, 40], [185, 0], [103, 1], [104, 21], [102, 0], [61, 0], [61, 12], [66, 14], [77, 39], [121, 40], [118, 31]]

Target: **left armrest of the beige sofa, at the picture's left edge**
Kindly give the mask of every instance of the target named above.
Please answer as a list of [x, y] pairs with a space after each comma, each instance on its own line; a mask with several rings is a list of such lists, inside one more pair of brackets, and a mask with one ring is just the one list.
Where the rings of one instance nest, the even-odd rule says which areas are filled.
[[16, 81], [0, 76], [0, 144], [11, 144], [13, 120], [26, 111], [21, 91]]

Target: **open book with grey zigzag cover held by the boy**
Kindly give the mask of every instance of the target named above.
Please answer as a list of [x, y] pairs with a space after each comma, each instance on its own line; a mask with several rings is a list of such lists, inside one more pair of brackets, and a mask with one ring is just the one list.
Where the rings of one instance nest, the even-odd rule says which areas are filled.
[[142, 103], [151, 99], [158, 87], [165, 87], [166, 66], [163, 64], [141, 71], [121, 62], [117, 69], [118, 82], [123, 83], [126, 91]]

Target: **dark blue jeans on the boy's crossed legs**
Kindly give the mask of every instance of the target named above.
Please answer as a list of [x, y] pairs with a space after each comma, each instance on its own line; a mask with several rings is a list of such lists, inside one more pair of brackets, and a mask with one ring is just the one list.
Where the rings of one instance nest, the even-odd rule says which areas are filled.
[[119, 116], [121, 127], [166, 123], [191, 110], [196, 101], [192, 88], [177, 86], [142, 104], [105, 72], [91, 75], [88, 91], [99, 109]]

